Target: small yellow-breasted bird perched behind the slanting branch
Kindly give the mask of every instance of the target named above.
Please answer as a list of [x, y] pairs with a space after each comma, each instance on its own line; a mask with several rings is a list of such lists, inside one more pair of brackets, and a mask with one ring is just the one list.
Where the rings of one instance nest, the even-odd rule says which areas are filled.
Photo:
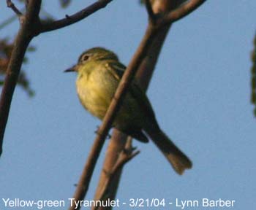
[[[102, 120], [125, 69], [116, 54], [102, 47], [94, 47], [83, 52], [78, 63], [66, 72], [78, 72], [76, 87], [81, 104]], [[151, 104], [136, 80], [124, 97], [113, 127], [139, 141], [148, 142], [144, 131], [178, 174], [192, 167], [189, 158], [159, 128]]]

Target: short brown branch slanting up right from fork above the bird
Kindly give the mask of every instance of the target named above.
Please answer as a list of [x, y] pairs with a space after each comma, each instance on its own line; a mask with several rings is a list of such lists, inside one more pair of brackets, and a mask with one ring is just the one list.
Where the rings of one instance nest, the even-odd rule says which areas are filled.
[[200, 5], [203, 4], [205, 1], [206, 0], [187, 1], [187, 3], [184, 3], [177, 9], [174, 9], [173, 11], [169, 12], [169, 14], [167, 14], [165, 18], [163, 18], [160, 24], [173, 23], [177, 20], [180, 20], [181, 18], [184, 18], [191, 12], [195, 11], [195, 9], [200, 7]]

